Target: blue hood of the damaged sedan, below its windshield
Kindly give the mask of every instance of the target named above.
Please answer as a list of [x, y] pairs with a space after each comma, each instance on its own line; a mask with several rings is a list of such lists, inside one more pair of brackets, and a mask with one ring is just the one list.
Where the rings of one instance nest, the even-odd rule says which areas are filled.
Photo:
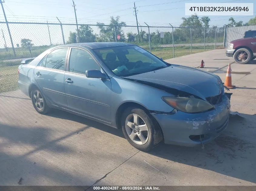
[[152, 72], [124, 78], [138, 82], [158, 84], [193, 94], [204, 100], [206, 97], [221, 94], [223, 89], [222, 81], [217, 75], [181, 65], [171, 65]]

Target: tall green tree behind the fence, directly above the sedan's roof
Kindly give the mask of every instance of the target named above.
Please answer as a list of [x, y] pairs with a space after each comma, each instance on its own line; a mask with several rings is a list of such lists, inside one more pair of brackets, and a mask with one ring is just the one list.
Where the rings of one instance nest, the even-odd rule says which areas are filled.
[[[125, 34], [122, 30], [122, 26], [125, 26], [126, 23], [125, 22], [121, 22], [119, 21], [120, 17], [117, 16], [116, 18], [114, 18], [113, 16], [110, 17], [110, 26], [104, 26], [104, 23], [97, 23], [100, 29], [100, 35], [99, 38], [102, 39], [102, 41], [110, 41], [110, 42], [115, 42], [115, 34], [116, 35], [120, 35], [120, 42], [124, 42], [125, 41]], [[114, 29], [115, 27], [115, 29]]]

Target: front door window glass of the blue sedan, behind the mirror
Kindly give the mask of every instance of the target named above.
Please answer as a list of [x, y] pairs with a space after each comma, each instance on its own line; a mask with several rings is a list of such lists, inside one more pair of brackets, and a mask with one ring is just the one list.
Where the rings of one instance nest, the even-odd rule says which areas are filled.
[[101, 70], [101, 67], [89, 53], [81, 49], [72, 48], [69, 59], [69, 72], [85, 74], [85, 71], [90, 69]]

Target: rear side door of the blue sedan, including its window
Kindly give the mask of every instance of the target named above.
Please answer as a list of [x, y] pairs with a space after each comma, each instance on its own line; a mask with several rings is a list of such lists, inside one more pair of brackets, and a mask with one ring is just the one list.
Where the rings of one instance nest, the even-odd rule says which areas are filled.
[[64, 74], [69, 47], [52, 50], [34, 69], [35, 80], [52, 104], [67, 108]]

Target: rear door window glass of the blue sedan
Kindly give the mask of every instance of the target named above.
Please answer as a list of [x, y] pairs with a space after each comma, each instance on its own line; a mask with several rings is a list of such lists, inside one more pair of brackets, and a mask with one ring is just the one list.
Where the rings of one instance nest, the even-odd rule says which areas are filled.
[[[53, 50], [46, 57], [45, 68], [65, 70], [64, 65], [65, 65], [67, 52], [68, 52], [68, 48], [59, 48], [59, 49]], [[42, 64], [44, 63], [42, 62]], [[40, 64], [40, 66], [42, 65]]]

